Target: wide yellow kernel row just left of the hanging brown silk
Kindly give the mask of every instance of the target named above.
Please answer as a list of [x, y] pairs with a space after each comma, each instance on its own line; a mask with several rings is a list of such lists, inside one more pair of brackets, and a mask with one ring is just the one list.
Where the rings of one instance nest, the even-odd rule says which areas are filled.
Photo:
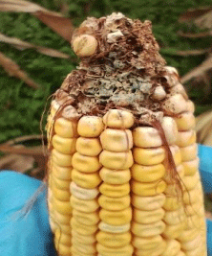
[[166, 183], [162, 179], [165, 175], [162, 164], [165, 150], [156, 128], [135, 128], [133, 138], [136, 146], [133, 151], [136, 163], [131, 168], [135, 255], [158, 256], [166, 248], [166, 241], [161, 236], [166, 228], [162, 221], [165, 213], [162, 209], [165, 202], [163, 192], [166, 189]]

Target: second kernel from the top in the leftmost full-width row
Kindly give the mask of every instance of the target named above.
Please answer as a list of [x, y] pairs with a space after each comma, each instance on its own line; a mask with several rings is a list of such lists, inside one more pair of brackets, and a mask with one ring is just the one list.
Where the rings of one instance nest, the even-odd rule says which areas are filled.
[[73, 154], [75, 151], [76, 138], [63, 138], [53, 135], [53, 148], [61, 153]]

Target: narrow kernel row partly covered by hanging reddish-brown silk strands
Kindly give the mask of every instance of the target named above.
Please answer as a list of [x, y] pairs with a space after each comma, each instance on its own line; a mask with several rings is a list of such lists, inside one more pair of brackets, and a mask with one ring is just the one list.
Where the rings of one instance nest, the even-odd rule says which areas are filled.
[[[179, 191], [180, 187], [178, 187], [178, 184], [176, 184], [176, 180], [171, 175], [173, 171], [177, 171], [178, 174], [174, 174], [177, 179], [182, 179], [184, 175], [183, 166], [181, 165], [180, 148], [175, 145], [178, 139], [178, 128], [173, 118], [164, 117], [163, 120], [164, 124], [162, 125], [174, 163], [170, 161], [170, 156], [167, 154], [167, 157], [163, 161], [163, 165], [166, 169], [166, 174], [164, 175], [163, 179], [167, 184], [164, 191], [166, 198], [165, 203], [163, 204], [163, 209], [165, 210], [163, 221], [165, 222], [166, 227], [162, 233], [162, 236], [166, 239], [167, 244], [162, 255], [184, 255], [184, 253], [180, 250], [179, 241], [176, 240], [184, 227], [185, 221], [182, 201], [180, 198], [181, 192]], [[172, 166], [173, 164], [175, 166]]]

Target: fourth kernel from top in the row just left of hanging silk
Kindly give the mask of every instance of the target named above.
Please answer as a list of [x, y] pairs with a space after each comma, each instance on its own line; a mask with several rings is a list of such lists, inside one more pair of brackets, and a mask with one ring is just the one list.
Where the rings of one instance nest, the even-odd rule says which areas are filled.
[[141, 183], [136, 180], [132, 180], [132, 192], [142, 197], [159, 195], [165, 191], [166, 186], [165, 181], [162, 179], [152, 183]]

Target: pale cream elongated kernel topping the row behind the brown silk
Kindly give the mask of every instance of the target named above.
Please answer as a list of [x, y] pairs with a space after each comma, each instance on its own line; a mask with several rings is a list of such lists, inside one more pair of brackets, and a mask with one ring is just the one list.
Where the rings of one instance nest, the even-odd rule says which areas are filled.
[[161, 126], [165, 133], [165, 138], [169, 145], [174, 145], [178, 139], [178, 127], [172, 117], [164, 116]]

